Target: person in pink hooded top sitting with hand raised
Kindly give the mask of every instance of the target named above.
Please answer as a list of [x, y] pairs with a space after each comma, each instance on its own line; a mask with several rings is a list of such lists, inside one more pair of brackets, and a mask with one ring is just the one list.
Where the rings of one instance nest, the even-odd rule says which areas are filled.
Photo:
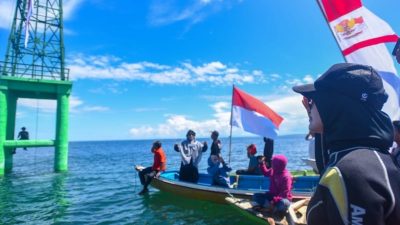
[[272, 167], [267, 169], [263, 156], [258, 158], [259, 168], [264, 176], [270, 177], [269, 191], [253, 195], [255, 209], [284, 214], [292, 201], [292, 175], [286, 169], [287, 158], [284, 155], [272, 157]]

